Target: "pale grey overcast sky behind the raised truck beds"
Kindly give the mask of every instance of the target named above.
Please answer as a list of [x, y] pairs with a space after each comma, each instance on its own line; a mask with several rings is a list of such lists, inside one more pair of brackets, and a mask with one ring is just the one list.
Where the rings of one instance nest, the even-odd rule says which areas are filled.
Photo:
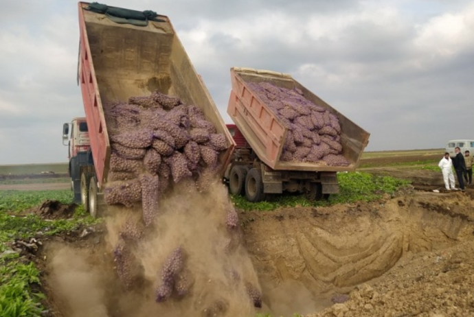
[[[290, 73], [370, 132], [368, 151], [474, 139], [474, 1], [108, 0], [170, 18], [226, 123], [231, 67]], [[83, 117], [78, 6], [0, 0], [0, 165], [67, 162]]]

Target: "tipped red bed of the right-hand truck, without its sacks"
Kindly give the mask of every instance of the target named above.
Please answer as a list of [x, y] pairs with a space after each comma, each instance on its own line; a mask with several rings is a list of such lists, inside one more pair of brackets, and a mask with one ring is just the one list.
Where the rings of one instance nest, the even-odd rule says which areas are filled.
[[[258, 158], [271, 169], [314, 171], [314, 172], [344, 172], [353, 171], [359, 163], [362, 152], [368, 144], [370, 134], [354, 124], [347, 117], [339, 113], [329, 104], [308, 91], [302, 84], [294, 80], [291, 75], [233, 67], [231, 69], [232, 91], [229, 98], [227, 113], [245, 139], [256, 152]], [[280, 119], [254, 93], [249, 82], [269, 82], [286, 89], [301, 89], [304, 97], [314, 104], [323, 106], [337, 115], [341, 124], [342, 154], [350, 163], [349, 166], [328, 166], [316, 163], [284, 162], [280, 161], [282, 148], [286, 137], [286, 128]]]

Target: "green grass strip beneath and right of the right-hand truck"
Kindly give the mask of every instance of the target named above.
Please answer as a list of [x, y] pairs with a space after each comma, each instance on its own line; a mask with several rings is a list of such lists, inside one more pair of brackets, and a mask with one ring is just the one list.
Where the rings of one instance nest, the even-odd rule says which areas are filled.
[[391, 176], [373, 176], [363, 172], [339, 173], [339, 194], [331, 195], [328, 200], [311, 202], [303, 195], [275, 196], [263, 202], [249, 202], [243, 196], [232, 195], [232, 201], [238, 209], [245, 211], [271, 211], [279, 207], [308, 207], [328, 206], [346, 202], [372, 201], [380, 199], [384, 193], [392, 194], [402, 187], [409, 185], [408, 180]]

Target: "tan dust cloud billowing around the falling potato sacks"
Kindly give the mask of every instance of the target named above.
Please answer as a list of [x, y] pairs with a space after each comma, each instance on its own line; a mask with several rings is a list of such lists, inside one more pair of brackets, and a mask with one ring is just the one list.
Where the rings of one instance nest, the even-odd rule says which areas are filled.
[[[139, 224], [141, 209], [109, 207], [107, 233], [94, 250], [54, 245], [47, 250], [47, 282], [63, 316], [254, 316], [249, 285], [260, 294], [256, 271], [241, 244], [239, 228], [228, 228], [232, 210], [227, 188], [214, 183], [205, 193], [179, 184], [162, 197], [155, 224], [131, 242], [139, 278], [124, 287], [113, 250], [126, 222]], [[182, 297], [155, 302], [161, 268], [177, 247], [190, 273], [190, 289]]]

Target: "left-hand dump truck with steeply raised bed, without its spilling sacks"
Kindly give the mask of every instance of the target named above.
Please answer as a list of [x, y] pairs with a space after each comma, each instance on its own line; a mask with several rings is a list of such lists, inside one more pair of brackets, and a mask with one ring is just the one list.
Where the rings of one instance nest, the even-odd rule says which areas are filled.
[[63, 126], [74, 200], [93, 216], [105, 207], [103, 189], [111, 159], [104, 104], [127, 102], [129, 97], [153, 91], [174, 95], [183, 104], [200, 108], [217, 132], [225, 135], [229, 147], [218, 156], [221, 166], [227, 166], [235, 145], [168, 16], [140, 19], [142, 12], [100, 6], [104, 12], [91, 10], [97, 9], [91, 3], [78, 3], [78, 84], [85, 117]]

